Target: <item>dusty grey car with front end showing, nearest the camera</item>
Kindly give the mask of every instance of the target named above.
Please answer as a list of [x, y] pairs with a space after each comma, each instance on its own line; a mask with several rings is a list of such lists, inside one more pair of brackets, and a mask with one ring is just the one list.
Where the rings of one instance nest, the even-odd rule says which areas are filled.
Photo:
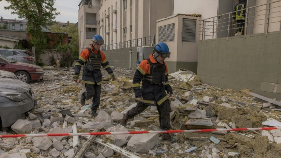
[[25, 119], [35, 106], [37, 100], [30, 85], [16, 79], [11, 72], [0, 70], [0, 129]]

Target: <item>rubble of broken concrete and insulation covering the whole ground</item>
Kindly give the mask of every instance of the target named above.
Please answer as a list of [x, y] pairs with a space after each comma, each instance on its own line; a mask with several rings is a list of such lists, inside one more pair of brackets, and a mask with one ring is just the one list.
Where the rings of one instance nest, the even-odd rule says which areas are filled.
[[[98, 116], [91, 117], [91, 101], [80, 105], [85, 91], [73, 82], [73, 68], [45, 70], [44, 80], [30, 85], [38, 108], [26, 119], [4, 128], [1, 135], [37, 133], [127, 132], [161, 130], [157, 108], [151, 106], [130, 119], [126, 127], [120, 119], [136, 106], [132, 89], [135, 70], [113, 67], [117, 81], [102, 69], [104, 76]], [[82, 74], [82, 73], [81, 73]], [[81, 77], [81, 76], [80, 76]], [[190, 71], [170, 74], [170, 124], [173, 130], [255, 128], [281, 126], [281, 103], [262, 100], [250, 90], [223, 90], [204, 84]], [[280, 103], [280, 105], [279, 105]], [[85, 158], [94, 157], [186, 157], [270, 158], [281, 155], [281, 130], [173, 133], [176, 143], [163, 141], [159, 134], [53, 136], [0, 139], [1, 157], [74, 158], [85, 149]], [[87, 145], [87, 141], [93, 143]], [[277, 156], [277, 157], [279, 157]]]

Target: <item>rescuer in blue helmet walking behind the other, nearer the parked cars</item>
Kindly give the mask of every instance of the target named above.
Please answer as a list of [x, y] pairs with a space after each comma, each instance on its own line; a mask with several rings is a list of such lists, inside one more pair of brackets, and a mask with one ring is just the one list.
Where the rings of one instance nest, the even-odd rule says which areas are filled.
[[92, 41], [91, 48], [83, 50], [75, 63], [73, 80], [77, 81], [79, 79], [81, 67], [84, 65], [81, 83], [85, 83], [86, 92], [82, 93], [80, 103], [81, 105], [85, 105], [85, 99], [89, 100], [93, 97], [91, 115], [97, 116], [96, 111], [99, 107], [101, 96], [101, 66], [111, 76], [112, 81], [114, 81], [115, 76], [104, 53], [99, 50], [104, 40], [100, 35], [95, 35]]

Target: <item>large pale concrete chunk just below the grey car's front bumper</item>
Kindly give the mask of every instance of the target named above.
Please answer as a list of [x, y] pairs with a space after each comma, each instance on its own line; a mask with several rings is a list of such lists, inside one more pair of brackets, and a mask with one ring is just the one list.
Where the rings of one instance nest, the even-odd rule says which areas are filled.
[[12, 126], [11, 129], [17, 134], [29, 133], [32, 130], [32, 123], [27, 119], [18, 119]]

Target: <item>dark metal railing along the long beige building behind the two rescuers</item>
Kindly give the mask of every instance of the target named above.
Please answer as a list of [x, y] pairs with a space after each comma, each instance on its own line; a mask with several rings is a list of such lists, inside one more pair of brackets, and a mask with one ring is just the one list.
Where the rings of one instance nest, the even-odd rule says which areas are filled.
[[151, 45], [155, 44], [155, 36], [148, 36], [148, 37], [143, 37], [139, 39], [132, 39], [129, 41], [124, 41], [124, 42], [119, 42], [119, 43], [114, 43], [114, 44], [108, 44], [105, 46], [101, 46], [101, 50], [116, 50], [120, 48], [130, 48], [130, 47], [138, 47], [138, 46], [146, 46], [146, 45]]

